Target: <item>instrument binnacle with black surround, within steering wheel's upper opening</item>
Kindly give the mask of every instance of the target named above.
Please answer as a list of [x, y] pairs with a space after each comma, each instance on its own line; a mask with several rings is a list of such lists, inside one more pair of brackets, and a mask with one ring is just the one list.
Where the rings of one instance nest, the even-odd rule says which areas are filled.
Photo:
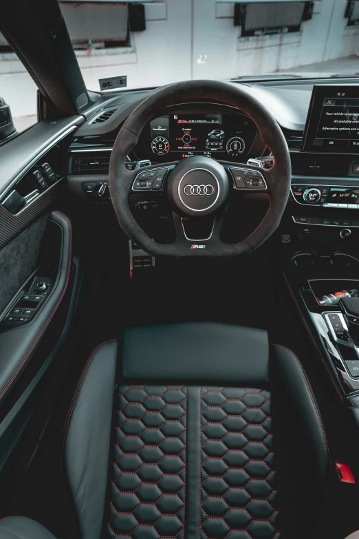
[[169, 107], [168, 114], [144, 127], [135, 156], [152, 162], [198, 155], [243, 162], [263, 154], [265, 147], [252, 120], [230, 108], [201, 103]]

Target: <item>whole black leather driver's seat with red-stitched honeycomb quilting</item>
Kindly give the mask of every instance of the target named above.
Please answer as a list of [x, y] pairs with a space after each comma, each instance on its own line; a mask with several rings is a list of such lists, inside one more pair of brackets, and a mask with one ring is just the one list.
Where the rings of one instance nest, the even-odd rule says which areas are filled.
[[[81, 539], [316, 537], [331, 461], [291, 350], [210, 323], [129, 328], [120, 348], [94, 350], [67, 414]], [[0, 536], [54, 539], [24, 517]]]

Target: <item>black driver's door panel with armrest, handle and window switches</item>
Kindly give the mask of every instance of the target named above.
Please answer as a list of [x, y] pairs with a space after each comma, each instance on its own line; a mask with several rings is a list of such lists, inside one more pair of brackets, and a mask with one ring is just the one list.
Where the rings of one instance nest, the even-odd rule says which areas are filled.
[[[4, 492], [12, 484], [12, 450], [21, 445], [41, 399], [40, 382], [60, 361], [76, 315], [80, 261], [73, 262], [71, 222], [56, 208], [67, 193], [69, 137], [83, 121], [43, 120], [0, 146], [0, 475], [9, 472]], [[49, 173], [45, 187], [38, 186], [37, 172], [45, 178], [47, 162], [55, 176]], [[34, 195], [26, 198], [31, 189]], [[14, 191], [25, 200], [19, 211], [4, 204]], [[39, 293], [30, 293], [36, 276], [51, 283], [37, 304]], [[25, 296], [32, 296], [30, 303]], [[25, 309], [29, 318], [14, 320], [13, 308]]]

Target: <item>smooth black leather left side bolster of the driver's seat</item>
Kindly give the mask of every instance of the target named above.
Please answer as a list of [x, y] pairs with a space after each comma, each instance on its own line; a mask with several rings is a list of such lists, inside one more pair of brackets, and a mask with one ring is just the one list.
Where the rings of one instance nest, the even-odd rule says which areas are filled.
[[65, 471], [84, 539], [100, 538], [116, 387], [116, 341], [98, 346], [78, 381], [65, 425]]

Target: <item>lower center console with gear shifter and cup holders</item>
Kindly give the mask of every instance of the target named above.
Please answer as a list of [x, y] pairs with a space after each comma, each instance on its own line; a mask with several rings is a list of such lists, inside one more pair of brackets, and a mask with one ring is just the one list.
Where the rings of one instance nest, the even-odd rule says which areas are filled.
[[359, 392], [359, 252], [287, 251], [283, 276], [338, 392]]

